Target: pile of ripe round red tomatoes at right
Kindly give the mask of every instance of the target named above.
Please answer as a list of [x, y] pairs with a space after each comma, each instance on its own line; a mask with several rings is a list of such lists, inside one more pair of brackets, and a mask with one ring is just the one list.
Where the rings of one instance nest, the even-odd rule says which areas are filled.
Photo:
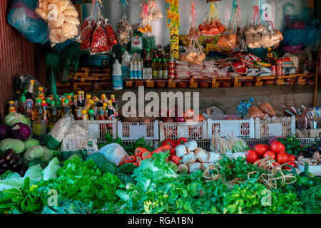
[[[273, 166], [279, 166], [283, 164], [295, 167], [295, 156], [285, 152], [285, 145], [281, 142], [273, 142], [271, 146], [258, 144], [255, 145], [254, 150], [248, 150], [246, 155], [246, 161], [253, 165], [260, 164], [260, 160], [270, 157], [273, 162]], [[290, 167], [283, 166], [285, 169], [290, 170]]]

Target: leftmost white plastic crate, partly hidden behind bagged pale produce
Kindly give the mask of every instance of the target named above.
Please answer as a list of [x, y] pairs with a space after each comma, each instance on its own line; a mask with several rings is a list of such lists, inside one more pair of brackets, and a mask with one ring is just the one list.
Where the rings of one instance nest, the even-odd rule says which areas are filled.
[[106, 134], [113, 135], [113, 139], [117, 138], [117, 120], [76, 120], [75, 123], [88, 130], [88, 134], [96, 138], [98, 144], [106, 142]]

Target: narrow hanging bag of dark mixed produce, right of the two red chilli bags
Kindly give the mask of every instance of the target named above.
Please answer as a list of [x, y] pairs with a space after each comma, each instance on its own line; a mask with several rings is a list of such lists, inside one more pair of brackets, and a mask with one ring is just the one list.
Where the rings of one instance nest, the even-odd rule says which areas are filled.
[[126, 20], [126, 10], [129, 8], [128, 1], [121, 0], [119, 4], [121, 5], [121, 20], [118, 21], [116, 26], [116, 39], [119, 44], [124, 45], [131, 42], [131, 38], [133, 37], [133, 28]]

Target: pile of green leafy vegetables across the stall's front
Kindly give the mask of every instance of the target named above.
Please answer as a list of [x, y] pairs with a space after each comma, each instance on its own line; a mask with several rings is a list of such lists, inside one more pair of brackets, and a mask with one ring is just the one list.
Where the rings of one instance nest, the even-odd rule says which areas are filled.
[[[260, 171], [245, 159], [223, 157], [218, 181], [205, 182], [203, 172], [178, 174], [177, 165], [166, 162], [167, 153], [116, 167], [101, 154], [58, 162], [55, 157], [46, 172], [40, 165], [29, 176], [6, 173], [1, 181], [14, 179], [0, 192], [1, 213], [106, 214], [106, 213], [207, 213], [207, 214], [320, 214], [320, 185], [297, 191], [288, 185], [267, 190], [258, 176]], [[58, 164], [58, 165], [57, 165]], [[61, 166], [59, 166], [59, 164]], [[31, 169], [31, 167], [29, 168]], [[46, 175], [46, 178], [44, 176]], [[49, 177], [49, 178], [47, 178]], [[7, 179], [6, 179], [7, 178]], [[225, 184], [235, 178], [244, 180], [233, 187]], [[18, 180], [16, 180], [18, 179]], [[9, 187], [12, 186], [12, 187]], [[56, 190], [58, 204], [50, 204]]]

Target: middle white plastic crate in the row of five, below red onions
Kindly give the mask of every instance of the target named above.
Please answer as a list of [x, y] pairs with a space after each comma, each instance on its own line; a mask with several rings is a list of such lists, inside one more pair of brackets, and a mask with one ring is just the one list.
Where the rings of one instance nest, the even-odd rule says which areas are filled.
[[207, 124], [203, 122], [187, 122], [187, 123], [159, 123], [160, 141], [171, 138], [178, 140], [186, 138], [186, 140], [205, 140], [207, 137]]

